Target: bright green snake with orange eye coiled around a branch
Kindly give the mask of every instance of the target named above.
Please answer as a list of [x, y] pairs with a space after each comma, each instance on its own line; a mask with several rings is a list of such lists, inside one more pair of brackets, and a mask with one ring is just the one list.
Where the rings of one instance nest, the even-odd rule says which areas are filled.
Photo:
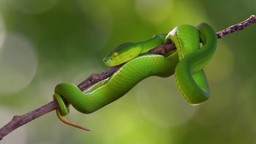
[[[176, 50], [165, 56], [142, 55], [164, 44], [169, 38]], [[201, 104], [210, 97], [203, 68], [210, 62], [216, 47], [216, 33], [206, 23], [200, 23], [197, 27], [182, 25], [168, 34], [154, 35], [147, 41], [121, 44], [103, 59], [109, 66], [125, 63], [108, 79], [96, 83], [85, 92], [71, 83], [60, 83], [55, 87], [53, 97], [59, 104], [57, 116], [66, 124], [89, 130], [63, 118], [68, 114], [70, 104], [79, 112], [92, 113], [123, 97], [149, 76], [168, 77], [175, 74], [176, 85], [183, 98], [189, 104]]]

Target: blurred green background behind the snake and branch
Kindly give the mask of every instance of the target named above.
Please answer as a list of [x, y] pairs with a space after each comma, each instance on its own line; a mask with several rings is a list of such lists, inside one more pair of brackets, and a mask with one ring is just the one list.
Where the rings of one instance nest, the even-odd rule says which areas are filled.
[[[0, 0], [0, 127], [52, 100], [60, 82], [78, 84], [108, 69], [108, 51], [175, 26], [207, 22], [216, 31], [256, 14], [256, 1]], [[256, 25], [218, 40], [205, 68], [206, 103], [191, 106], [173, 76], [149, 77], [90, 115], [50, 112], [1, 143], [256, 143]]]

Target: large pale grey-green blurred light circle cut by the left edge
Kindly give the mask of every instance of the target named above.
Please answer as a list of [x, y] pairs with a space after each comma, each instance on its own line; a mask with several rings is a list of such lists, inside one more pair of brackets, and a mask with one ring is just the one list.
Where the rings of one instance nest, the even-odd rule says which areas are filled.
[[0, 93], [12, 94], [25, 88], [37, 71], [33, 46], [22, 35], [8, 34], [0, 51]]

